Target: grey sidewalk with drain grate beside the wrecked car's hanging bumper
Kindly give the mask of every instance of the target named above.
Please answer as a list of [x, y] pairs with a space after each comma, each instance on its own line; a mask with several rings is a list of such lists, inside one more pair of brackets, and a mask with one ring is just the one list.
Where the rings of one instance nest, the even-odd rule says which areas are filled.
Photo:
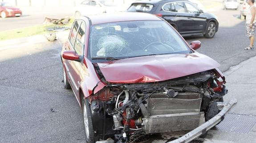
[[[224, 101], [229, 101], [231, 98], [236, 98], [238, 103], [229, 113], [240, 114], [237, 118], [242, 116], [256, 117], [256, 57], [249, 58], [248, 60], [241, 62], [237, 66], [231, 67], [224, 73], [226, 77], [226, 87], [228, 94], [224, 96]], [[236, 119], [234, 119], [236, 120]], [[235, 128], [229, 128], [230, 131], [216, 131], [210, 130], [207, 139], [204, 143], [256, 143], [256, 124], [251, 124], [249, 133], [236, 133], [232, 130], [240, 128], [234, 120], [229, 120], [230, 124], [235, 124]], [[250, 123], [246, 122], [246, 119], [241, 123], [245, 128], [249, 128]], [[254, 123], [256, 120], [254, 120]], [[242, 131], [243, 132], [243, 131]]]

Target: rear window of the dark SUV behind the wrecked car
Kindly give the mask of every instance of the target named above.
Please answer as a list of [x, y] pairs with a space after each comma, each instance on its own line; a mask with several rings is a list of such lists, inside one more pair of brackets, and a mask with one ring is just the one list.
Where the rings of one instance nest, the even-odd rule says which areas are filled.
[[128, 12], [150, 12], [154, 7], [153, 4], [132, 4], [127, 9]]

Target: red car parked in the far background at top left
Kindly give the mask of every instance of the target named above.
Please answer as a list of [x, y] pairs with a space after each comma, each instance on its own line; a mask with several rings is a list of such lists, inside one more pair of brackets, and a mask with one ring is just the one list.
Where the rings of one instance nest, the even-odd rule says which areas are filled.
[[0, 16], [2, 18], [21, 16], [21, 15], [22, 15], [22, 12], [19, 8], [15, 8], [12, 5], [5, 2], [0, 2]]

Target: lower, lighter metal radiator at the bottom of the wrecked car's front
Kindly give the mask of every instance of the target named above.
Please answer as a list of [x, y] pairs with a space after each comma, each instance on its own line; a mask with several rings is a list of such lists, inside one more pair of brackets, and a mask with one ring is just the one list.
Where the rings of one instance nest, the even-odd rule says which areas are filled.
[[146, 133], [189, 131], [204, 123], [203, 112], [150, 116], [144, 119]]

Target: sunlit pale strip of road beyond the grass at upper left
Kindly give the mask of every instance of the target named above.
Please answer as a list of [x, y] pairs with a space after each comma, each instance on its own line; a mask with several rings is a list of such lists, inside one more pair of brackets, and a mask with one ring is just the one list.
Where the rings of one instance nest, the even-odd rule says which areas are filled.
[[47, 14], [32, 14], [32, 15], [22, 15], [20, 17], [0, 17], [0, 31], [12, 30], [16, 28], [29, 27], [33, 25], [42, 24], [45, 20], [45, 17], [53, 19], [61, 19], [66, 16], [72, 16], [72, 13], [63, 12], [63, 13], [47, 13]]

